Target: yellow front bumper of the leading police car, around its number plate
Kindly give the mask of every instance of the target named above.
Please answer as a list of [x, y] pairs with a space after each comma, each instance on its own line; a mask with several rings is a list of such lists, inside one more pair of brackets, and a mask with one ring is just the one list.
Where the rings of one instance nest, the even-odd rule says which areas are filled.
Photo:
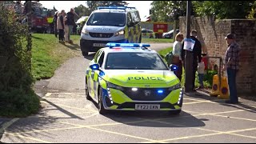
[[[103, 106], [106, 110], [138, 110], [136, 105], [160, 106], [159, 109], [150, 110], [181, 110], [183, 102], [183, 90], [173, 90], [161, 101], [134, 101], [121, 90], [105, 90], [103, 94]], [[110, 94], [110, 95], [109, 95]], [[140, 109], [142, 110], [142, 109]], [[145, 109], [149, 110], [149, 109]]]

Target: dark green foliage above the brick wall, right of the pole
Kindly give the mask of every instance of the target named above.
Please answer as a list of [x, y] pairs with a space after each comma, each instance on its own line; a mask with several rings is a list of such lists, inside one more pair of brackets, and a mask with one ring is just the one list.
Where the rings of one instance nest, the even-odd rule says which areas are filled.
[[216, 18], [246, 18], [254, 1], [194, 1], [198, 16], [215, 15]]

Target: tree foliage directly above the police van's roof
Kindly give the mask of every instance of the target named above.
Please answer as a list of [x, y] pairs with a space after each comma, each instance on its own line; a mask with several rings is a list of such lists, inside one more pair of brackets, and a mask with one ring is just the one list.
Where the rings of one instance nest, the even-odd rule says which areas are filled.
[[87, 1], [87, 6], [91, 11], [97, 9], [98, 6], [126, 6], [125, 1]]

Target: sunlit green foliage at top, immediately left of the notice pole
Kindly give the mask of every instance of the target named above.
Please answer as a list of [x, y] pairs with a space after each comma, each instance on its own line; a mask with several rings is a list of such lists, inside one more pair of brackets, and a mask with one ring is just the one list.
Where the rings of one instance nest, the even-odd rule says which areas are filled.
[[154, 1], [151, 3], [152, 21], [173, 22], [186, 15], [186, 1]]

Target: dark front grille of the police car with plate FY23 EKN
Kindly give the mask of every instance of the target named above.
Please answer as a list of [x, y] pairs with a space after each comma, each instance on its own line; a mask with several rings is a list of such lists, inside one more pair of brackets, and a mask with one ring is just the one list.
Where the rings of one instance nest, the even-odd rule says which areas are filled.
[[[171, 92], [169, 88], [138, 88], [136, 91], [127, 87], [124, 89], [122, 92], [134, 101], [161, 101]], [[162, 94], [158, 90], [162, 90]]]

